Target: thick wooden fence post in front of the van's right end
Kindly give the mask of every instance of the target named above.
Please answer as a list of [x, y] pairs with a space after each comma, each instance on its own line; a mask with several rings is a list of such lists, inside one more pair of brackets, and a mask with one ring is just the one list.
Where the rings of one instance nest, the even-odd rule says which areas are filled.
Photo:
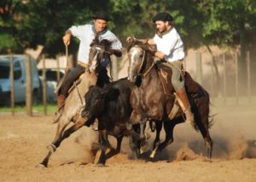
[[31, 57], [26, 54], [26, 115], [32, 116], [32, 71]]

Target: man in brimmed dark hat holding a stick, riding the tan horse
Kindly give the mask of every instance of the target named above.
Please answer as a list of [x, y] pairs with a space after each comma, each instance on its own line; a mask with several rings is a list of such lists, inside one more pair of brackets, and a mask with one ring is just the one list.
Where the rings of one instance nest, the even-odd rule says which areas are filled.
[[[72, 86], [73, 82], [79, 78], [79, 76], [85, 71], [89, 60], [90, 43], [98, 35], [99, 40], [107, 39], [111, 43], [110, 53], [117, 57], [122, 56], [122, 43], [119, 38], [116, 37], [112, 31], [109, 31], [108, 26], [108, 14], [103, 11], [98, 11], [92, 17], [93, 22], [82, 26], [72, 26], [69, 28], [63, 38], [63, 43], [68, 46], [71, 37], [79, 38], [79, 54], [78, 54], [78, 65], [74, 66], [73, 69], [68, 71], [67, 77], [61, 85], [58, 92], [57, 105], [60, 109], [64, 105], [67, 97], [67, 91]], [[106, 66], [108, 63], [106, 64]], [[107, 72], [107, 70], [106, 70]], [[55, 116], [55, 121], [61, 116], [61, 111], [58, 111]]]

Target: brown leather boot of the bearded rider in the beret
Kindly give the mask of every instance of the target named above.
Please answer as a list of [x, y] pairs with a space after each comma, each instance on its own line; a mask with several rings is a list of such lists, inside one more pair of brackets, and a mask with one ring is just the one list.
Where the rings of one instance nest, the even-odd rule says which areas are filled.
[[190, 124], [193, 124], [195, 121], [194, 121], [194, 114], [191, 112], [191, 107], [190, 107], [190, 103], [189, 103], [189, 99], [188, 99], [188, 95], [186, 93], [186, 90], [185, 88], [181, 88], [179, 89], [177, 92], [177, 97], [178, 99], [181, 101], [179, 101], [179, 104], [181, 105], [182, 109], [183, 109], [183, 112], [186, 116], [186, 121], [185, 122], [188, 122]]

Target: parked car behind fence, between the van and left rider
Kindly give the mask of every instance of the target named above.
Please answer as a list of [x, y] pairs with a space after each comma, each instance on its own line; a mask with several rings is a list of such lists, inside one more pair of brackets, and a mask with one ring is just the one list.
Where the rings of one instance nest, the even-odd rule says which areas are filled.
[[[57, 100], [57, 94], [55, 94], [55, 88], [57, 86], [57, 72], [55, 68], [47, 68], [45, 71], [46, 75], [46, 94], [47, 102], [55, 103]], [[38, 70], [40, 79], [40, 97], [43, 98], [43, 69]], [[64, 69], [60, 69], [60, 79], [64, 75]]]

